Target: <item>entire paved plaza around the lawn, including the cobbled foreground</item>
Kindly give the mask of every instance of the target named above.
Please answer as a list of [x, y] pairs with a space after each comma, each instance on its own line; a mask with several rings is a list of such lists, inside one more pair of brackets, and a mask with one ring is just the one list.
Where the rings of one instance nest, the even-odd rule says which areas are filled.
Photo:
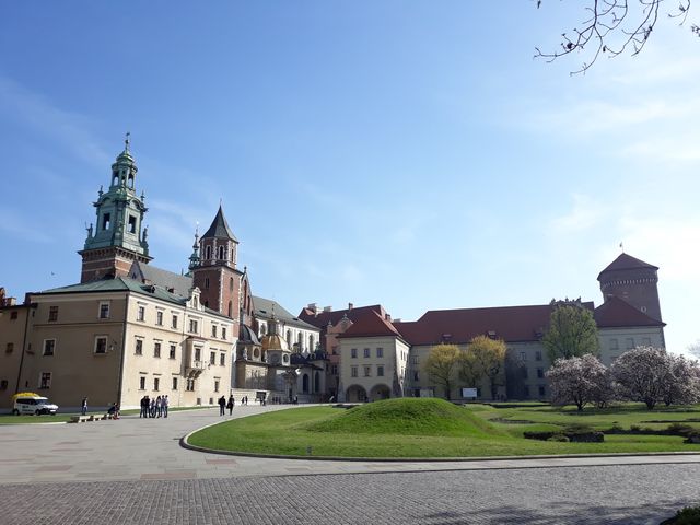
[[657, 524], [700, 502], [700, 455], [381, 463], [179, 446], [221, 419], [0, 427], [0, 523]]

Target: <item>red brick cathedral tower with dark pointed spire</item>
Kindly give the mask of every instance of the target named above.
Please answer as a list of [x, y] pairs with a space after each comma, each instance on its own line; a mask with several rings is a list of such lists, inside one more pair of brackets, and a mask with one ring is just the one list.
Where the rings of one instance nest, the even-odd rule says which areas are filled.
[[[195, 243], [197, 244], [197, 243]], [[209, 230], [190, 257], [192, 283], [201, 290], [205, 306], [238, 320], [241, 277], [236, 269], [238, 241], [231, 232], [221, 206]], [[237, 334], [237, 324], [234, 334]]]

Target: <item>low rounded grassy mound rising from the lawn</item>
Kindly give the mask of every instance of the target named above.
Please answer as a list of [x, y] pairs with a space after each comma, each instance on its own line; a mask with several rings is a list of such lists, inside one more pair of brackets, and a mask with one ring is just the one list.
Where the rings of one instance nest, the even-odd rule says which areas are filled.
[[305, 425], [310, 432], [346, 434], [464, 435], [500, 434], [464, 407], [443, 399], [398, 398], [360, 405]]

